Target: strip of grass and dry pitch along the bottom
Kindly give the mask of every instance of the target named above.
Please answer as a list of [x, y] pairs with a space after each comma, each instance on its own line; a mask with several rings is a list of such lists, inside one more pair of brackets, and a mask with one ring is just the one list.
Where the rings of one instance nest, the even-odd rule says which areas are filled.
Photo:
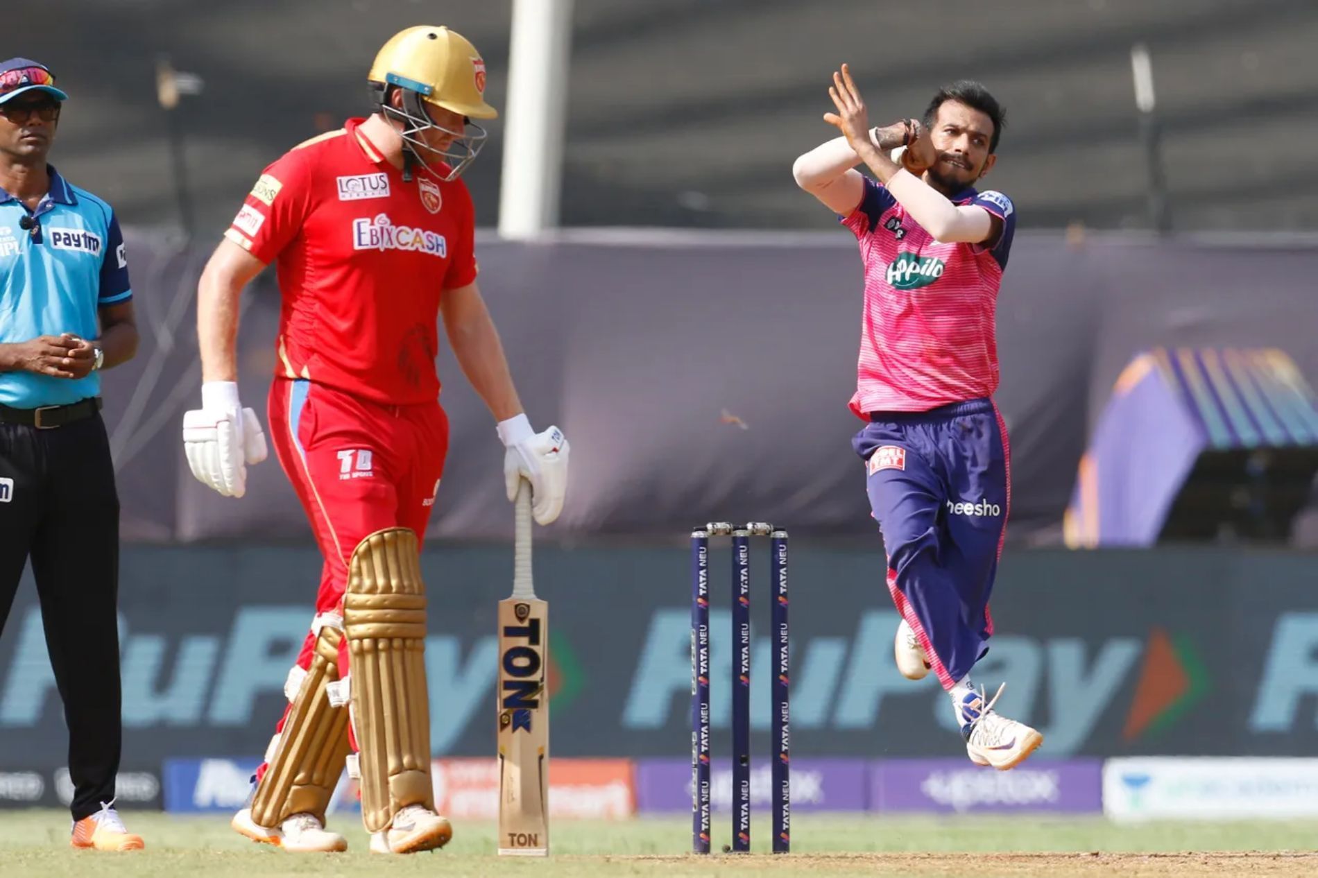
[[[720, 815], [722, 816], [722, 815]], [[1116, 827], [1102, 819], [1065, 817], [853, 817], [796, 815], [793, 853], [687, 854], [688, 820], [630, 823], [560, 821], [548, 861], [494, 856], [494, 827], [464, 823], [442, 852], [370, 857], [356, 817], [332, 821], [348, 831], [347, 854], [293, 856], [254, 845], [227, 820], [125, 812], [146, 838], [141, 853], [71, 850], [69, 816], [61, 811], [0, 812], [0, 875], [132, 878], [268, 878], [320, 875], [919, 875], [998, 878], [1016, 875], [1318, 875], [1318, 825], [1311, 823], [1159, 823]], [[722, 824], [722, 825], [720, 825]], [[726, 837], [726, 817], [716, 842]], [[753, 837], [766, 850], [767, 820]], [[1198, 853], [1185, 853], [1198, 852]], [[1251, 853], [1253, 852], [1253, 853]], [[369, 863], [364, 862], [369, 857]]]

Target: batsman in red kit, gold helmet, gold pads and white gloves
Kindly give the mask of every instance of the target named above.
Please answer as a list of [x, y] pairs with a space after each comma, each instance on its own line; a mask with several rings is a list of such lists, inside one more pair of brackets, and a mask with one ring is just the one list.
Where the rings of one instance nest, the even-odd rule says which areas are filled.
[[337, 852], [326, 808], [347, 765], [376, 853], [442, 848], [435, 813], [419, 544], [439, 492], [448, 419], [438, 319], [506, 447], [509, 500], [563, 508], [568, 443], [535, 432], [476, 281], [473, 208], [459, 178], [494, 119], [485, 62], [442, 26], [409, 28], [368, 75], [374, 112], [294, 148], [257, 179], [198, 289], [202, 407], [183, 419], [203, 484], [245, 493], [266, 455], [239, 401], [239, 298], [277, 264], [282, 294], [270, 440], [324, 555], [289, 707], [232, 825], [290, 852]]

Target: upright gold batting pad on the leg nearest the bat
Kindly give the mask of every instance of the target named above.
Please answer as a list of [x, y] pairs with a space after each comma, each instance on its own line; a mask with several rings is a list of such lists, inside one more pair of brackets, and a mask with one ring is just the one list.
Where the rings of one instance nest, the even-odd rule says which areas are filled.
[[361, 821], [380, 832], [407, 805], [435, 809], [426, 587], [415, 533], [389, 527], [361, 541], [348, 566], [343, 617], [361, 759]]

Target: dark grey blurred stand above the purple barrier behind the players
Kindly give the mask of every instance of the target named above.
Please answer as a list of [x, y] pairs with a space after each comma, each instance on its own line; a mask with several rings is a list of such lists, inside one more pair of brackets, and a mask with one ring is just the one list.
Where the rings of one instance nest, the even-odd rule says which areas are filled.
[[[177, 220], [156, 59], [200, 75], [179, 112], [198, 228], [217, 236], [264, 165], [365, 111], [366, 67], [403, 25], [471, 37], [502, 105], [509, 15], [506, 1], [50, 0], [13, 9], [9, 33], [74, 98], [58, 165], [130, 224]], [[847, 61], [876, 121], [982, 79], [1008, 109], [992, 179], [1021, 225], [1140, 228], [1133, 42], [1153, 55], [1176, 228], [1318, 229], [1313, 0], [576, 0], [563, 220], [826, 227], [789, 167], [829, 136], [828, 78]], [[501, 132], [467, 175], [482, 225]]]

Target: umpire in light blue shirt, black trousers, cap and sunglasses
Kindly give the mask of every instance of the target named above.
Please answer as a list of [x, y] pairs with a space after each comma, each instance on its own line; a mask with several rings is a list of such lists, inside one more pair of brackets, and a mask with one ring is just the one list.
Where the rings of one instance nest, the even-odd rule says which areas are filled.
[[43, 65], [0, 63], [0, 630], [30, 556], [69, 724], [72, 845], [134, 850], [113, 808], [119, 496], [98, 394], [137, 327], [113, 211], [46, 163], [67, 98]]

